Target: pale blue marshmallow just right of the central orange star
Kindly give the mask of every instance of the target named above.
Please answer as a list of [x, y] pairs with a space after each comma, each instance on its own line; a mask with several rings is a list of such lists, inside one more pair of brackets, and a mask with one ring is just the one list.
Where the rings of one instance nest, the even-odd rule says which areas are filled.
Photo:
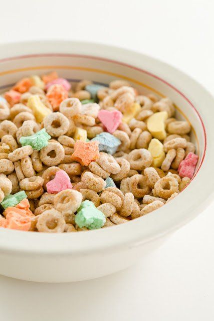
[[116, 152], [118, 146], [121, 144], [120, 139], [108, 132], [101, 132], [92, 138], [91, 141], [99, 141], [99, 151], [106, 151], [111, 155]]

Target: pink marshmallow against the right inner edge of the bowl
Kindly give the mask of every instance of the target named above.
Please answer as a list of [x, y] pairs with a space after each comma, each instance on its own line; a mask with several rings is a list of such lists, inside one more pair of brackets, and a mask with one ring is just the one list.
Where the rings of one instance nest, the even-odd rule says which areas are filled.
[[195, 171], [195, 167], [198, 161], [198, 156], [193, 152], [189, 152], [185, 159], [180, 162], [178, 167], [178, 174], [180, 177], [188, 177], [192, 179]]

